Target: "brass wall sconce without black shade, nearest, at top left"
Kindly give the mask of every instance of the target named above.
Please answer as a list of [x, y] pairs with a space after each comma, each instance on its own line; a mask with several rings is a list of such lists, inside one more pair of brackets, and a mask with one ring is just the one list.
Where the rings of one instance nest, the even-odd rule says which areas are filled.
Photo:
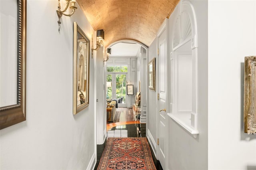
[[[68, 6], [69, 6], [70, 2], [71, 2], [71, 5], [70, 5], [69, 8], [72, 10], [72, 12], [70, 14], [64, 14], [64, 12], [66, 12], [66, 10], [68, 9]], [[58, 20], [58, 30], [59, 30], [59, 32], [60, 32], [60, 24], [61, 24], [60, 18], [62, 17], [62, 15], [72, 16], [75, 13], [76, 9], [77, 9], [77, 7], [76, 7], [76, 1], [75, 0], [66, 0], [66, 8], [62, 11], [60, 9], [60, 0], [58, 0], [58, 10], [56, 10], [56, 12], [57, 12], [57, 15], [58, 15], [58, 18], [59, 18], [59, 20]]]

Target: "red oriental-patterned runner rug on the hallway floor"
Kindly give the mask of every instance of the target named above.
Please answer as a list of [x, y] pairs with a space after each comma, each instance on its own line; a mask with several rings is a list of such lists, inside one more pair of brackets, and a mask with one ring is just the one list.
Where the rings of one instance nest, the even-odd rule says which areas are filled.
[[156, 170], [146, 138], [108, 138], [97, 170]]

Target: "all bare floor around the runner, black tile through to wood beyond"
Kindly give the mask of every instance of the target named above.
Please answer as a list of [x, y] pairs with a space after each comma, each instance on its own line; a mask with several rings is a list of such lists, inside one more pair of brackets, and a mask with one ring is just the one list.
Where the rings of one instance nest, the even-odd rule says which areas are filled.
[[[146, 123], [141, 124], [140, 121], [134, 121], [131, 108], [119, 107], [116, 111], [121, 111], [119, 122], [107, 124], [107, 137], [146, 137]], [[94, 170], [98, 167], [105, 145], [106, 140], [104, 144], [97, 145], [97, 162]], [[152, 154], [151, 146], [150, 150]], [[162, 170], [162, 166], [159, 160], [156, 160], [154, 154], [152, 154], [152, 158], [156, 169]]]

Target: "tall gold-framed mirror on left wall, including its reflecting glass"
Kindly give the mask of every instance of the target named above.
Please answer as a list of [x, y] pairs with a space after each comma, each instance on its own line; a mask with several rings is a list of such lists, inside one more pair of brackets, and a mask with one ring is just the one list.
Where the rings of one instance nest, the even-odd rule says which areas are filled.
[[89, 106], [90, 40], [74, 22], [73, 114]]

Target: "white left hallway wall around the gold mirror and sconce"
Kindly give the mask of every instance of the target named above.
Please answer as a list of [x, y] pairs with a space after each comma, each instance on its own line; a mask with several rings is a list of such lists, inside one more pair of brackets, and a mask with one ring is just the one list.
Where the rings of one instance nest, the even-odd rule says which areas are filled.
[[88, 38], [93, 29], [78, 7], [71, 18], [62, 17], [59, 33], [57, 5], [56, 0], [27, 2], [27, 120], [0, 131], [2, 170], [93, 166], [94, 61], [90, 57], [90, 105], [73, 115], [73, 22]]

